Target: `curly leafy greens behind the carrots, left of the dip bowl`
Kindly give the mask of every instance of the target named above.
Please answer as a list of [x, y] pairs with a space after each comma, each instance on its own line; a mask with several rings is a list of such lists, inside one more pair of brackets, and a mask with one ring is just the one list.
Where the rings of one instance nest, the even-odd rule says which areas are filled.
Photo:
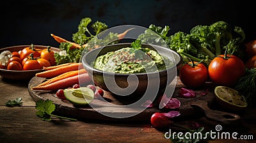
[[[92, 19], [90, 17], [85, 17], [81, 19], [77, 32], [72, 34], [72, 40], [81, 45], [80, 49], [70, 49], [72, 44], [63, 42], [60, 43], [60, 52], [54, 53], [54, 58], [56, 60], [56, 64], [63, 63], [79, 63], [80, 58], [83, 54], [83, 51], [88, 51], [95, 49], [95, 47], [101, 47], [104, 45], [108, 45], [111, 43], [116, 43], [117, 41], [117, 33], [108, 33], [103, 38], [99, 38], [98, 34], [106, 29], [108, 26], [103, 22], [94, 22], [91, 26]], [[86, 46], [84, 44], [87, 44]]]

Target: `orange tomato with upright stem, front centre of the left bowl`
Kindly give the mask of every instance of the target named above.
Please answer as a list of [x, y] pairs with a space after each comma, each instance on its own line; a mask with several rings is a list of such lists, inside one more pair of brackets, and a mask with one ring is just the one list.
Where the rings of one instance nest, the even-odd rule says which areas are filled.
[[39, 70], [42, 69], [43, 66], [41, 66], [36, 59], [34, 59], [33, 53], [30, 54], [31, 58], [27, 59], [26, 62], [23, 65], [23, 70]]

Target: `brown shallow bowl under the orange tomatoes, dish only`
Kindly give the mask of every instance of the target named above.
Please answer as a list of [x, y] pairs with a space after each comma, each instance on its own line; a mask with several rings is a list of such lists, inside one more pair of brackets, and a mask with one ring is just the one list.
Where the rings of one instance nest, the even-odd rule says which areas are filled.
[[[0, 49], [0, 53], [4, 50], [10, 50], [11, 52], [22, 50], [26, 47], [29, 47], [30, 45], [17, 45], [12, 47], [6, 47], [3, 49]], [[47, 46], [44, 45], [34, 45], [36, 49], [47, 49]], [[59, 52], [60, 49], [51, 47], [51, 50], [54, 52]], [[32, 77], [35, 77], [35, 74], [38, 72], [44, 71], [43, 69], [40, 70], [22, 70], [22, 71], [16, 71], [16, 70], [4, 70], [0, 68], [0, 75], [5, 79], [10, 80], [30, 80]]]

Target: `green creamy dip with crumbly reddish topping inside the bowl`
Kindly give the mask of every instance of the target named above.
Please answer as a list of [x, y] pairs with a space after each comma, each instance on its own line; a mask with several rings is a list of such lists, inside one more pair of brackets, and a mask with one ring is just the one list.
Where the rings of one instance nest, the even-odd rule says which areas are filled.
[[93, 63], [93, 67], [98, 70], [115, 73], [156, 72], [170, 66], [173, 66], [172, 61], [155, 50], [130, 47], [108, 52], [97, 57]]

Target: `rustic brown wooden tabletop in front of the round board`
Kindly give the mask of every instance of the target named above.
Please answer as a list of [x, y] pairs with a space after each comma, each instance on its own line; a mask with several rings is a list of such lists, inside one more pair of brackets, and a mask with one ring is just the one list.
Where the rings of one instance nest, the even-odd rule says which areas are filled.
[[[21, 107], [6, 107], [8, 100], [22, 97]], [[164, 139], [166, 131], [156, 130], [148, 121], [113, 122], [113, 121], [42, 121], [36, 116], [35, 102], [28, 93], [28, 81], [17, 82], [0, 76], [0, 142], [170, 142]], [[238, 135], [253, 135], [256, 138], [256, 110], [247, 109], [241, 114], [241, 124], [222, 126], [223, 131], [237, 132]], [[191, 128], [192, 122], [215, 131], [218, 124], [198, 113], [179, 121]], [[237, 137], [238, 137], [237, 135]], [[240, 136], [239, 136], [240, 137]], [[211, 140], [210, 142], [237, 142], [230, 140]], [[238, 140], [255, 142], [255, 140]]]

